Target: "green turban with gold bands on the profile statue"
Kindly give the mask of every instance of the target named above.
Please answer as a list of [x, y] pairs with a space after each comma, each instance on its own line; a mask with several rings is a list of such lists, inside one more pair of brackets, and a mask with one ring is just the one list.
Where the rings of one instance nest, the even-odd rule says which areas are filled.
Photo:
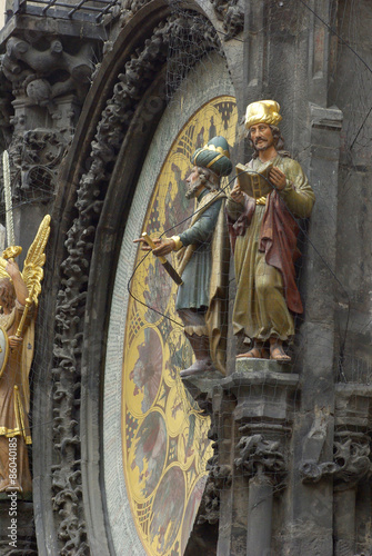
[[218, 176], [229, 176], [232, 170], [229, 145], [224, 137], [213, 137], [202, 149], [197, 149], [191, 157], [191, 163], [209, 168]]

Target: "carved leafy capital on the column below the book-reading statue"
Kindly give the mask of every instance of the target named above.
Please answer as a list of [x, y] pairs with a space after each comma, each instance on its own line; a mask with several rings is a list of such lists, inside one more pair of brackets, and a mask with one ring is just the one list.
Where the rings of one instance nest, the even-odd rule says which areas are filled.
[[235, 466], [247, 475], [267, 473], [272, 474], [278, 479], [286, 471], [279, 440], [265, 440], [263, 435], [259, 434], [243, 436], [239, 440], [237, 449], [240, 451], [240, 457], [235, 459]]

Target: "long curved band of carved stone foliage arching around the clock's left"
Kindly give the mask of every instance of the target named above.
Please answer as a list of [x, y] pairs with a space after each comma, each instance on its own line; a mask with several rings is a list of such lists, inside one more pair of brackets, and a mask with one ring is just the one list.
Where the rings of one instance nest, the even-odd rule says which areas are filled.
[[[187, 20], [184, 16], [172, 16], [161, 22], [152, 37], [132, 53], [123, 72], [118, 76], [112, 97], [101, 115], [91, 143], [90, 167], [81, 177], [77, 190], [77, 217], [67, 234], [67, 257], [61, 265], [62, 287], [56, 310], [53, 441], [58, 464], [53, 467], [52, 493], [62, 555], [78, 553], [74, 548], [78, 546], [79, 554], [83, 554], [87, 547], [78, 424], [83, 317], [95, 228], [114, 161], [137, 106], [167, 60], [170, 37], [192, 23], [193, 20]], [[200, 33], [203, 29], [198, 31]], [[204, 43], [194, 41], [194, 44], [195, 49], [213, 47], [207, 32]], [[139, 125], [143, 126], [151, 121], [154, 112], [150, 106], [148, 111], [145, 107], [141, 110]]]

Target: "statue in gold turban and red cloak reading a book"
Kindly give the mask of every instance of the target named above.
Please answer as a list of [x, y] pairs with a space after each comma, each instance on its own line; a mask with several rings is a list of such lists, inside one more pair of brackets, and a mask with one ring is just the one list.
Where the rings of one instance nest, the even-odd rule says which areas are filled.
[[303, 311], [295, 284], [295, 218], [309, 217], [315, 198], [299, 162], [282, 150], [279, 110], [278, 102], [263, 100], [249, 105], [245, 115], [254, 149], [245, 168], [253, 175], [267, 170], [272, 191], [254, 199], [237, 180], [227, 212], [237, 277], [233, 330], [253, 342], [238, 357], [268, 358], [269, 345], [271, 359], [289, 361], [283, 342], [294, 335], [293, 314]]

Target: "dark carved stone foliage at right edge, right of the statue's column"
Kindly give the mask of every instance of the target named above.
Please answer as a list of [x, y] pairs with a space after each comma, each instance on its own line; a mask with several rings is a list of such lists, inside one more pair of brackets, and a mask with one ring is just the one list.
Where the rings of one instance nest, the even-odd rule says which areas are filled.
[[321, 478], [333, 475], [340, 483], [358, 483], [372, 471], [368, 441], [355, 441], [348, 438], [334, 443], [334, 460], [318, 464], [304, 461], [301, 466], [303, 483], [318, 483]]

